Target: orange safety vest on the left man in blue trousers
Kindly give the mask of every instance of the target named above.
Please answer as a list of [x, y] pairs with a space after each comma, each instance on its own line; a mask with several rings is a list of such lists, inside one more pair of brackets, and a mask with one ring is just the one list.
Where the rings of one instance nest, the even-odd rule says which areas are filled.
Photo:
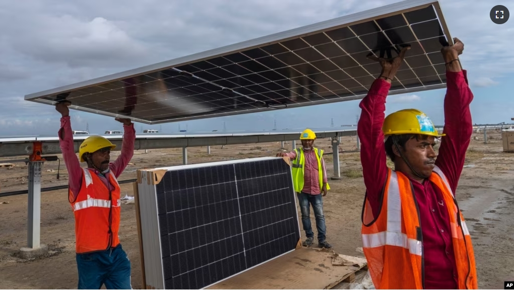
[[109, 173], [108, 181], [115, 189], [109, 191], [93, 169], [82, 168], [82, 184], [77, 199], [68, 190], [75, 215], [76, 252], [88, 253], [107, 250], [120, 243], [120, 185]]

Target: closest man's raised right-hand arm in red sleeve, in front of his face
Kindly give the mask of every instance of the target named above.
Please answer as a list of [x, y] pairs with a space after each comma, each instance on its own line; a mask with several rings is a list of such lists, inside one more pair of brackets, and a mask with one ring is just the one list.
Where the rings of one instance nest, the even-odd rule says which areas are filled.
[[464, 44], [454, 38], [454, 45], [444, 47], [441, 52], [446, 63], [445, 127], [441, 138], [439, 155], [435, 164], [445, 173], [453, 192], [461, 176], [466, 150], [473, 131], [469, 104], [473, 93], [468, 86], [466, 71], [461, 68], [458, 55]]

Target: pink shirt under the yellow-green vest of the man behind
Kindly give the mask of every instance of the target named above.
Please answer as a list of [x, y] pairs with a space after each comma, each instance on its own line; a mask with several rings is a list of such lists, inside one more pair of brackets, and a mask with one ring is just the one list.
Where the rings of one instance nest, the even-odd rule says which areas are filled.
[[[314, 147], [313, 147], [314, 148]], [[313, 149], [304, 152], [305, 158], [305, 168], [303, 173], [303, 189], [302, 192], [311, 195], [319, 195], [321, 193], [320, 190], [320, 182], [319, 182], [319, 168], [318, 168], [318, 159], [316, 158], [316, 153]], [[287, 157], [291, 160], [296, 159], [296, 152], [291, 151], [286, 153]], [[321, 158], [321, 167], [323, 168], [323, 183], [327, 182], [326, 178], [326, 168], [325, 161]]]

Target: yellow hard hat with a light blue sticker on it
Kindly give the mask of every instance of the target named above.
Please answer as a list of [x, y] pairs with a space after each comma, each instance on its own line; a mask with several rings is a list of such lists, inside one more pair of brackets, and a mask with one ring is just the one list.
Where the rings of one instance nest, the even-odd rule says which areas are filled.
[[384, 136], [393, 134], [445, 136], [445, 134], [437, 133], [432, 120], [424, 112], [416, 109], [399, 110], [389, 114], [384, 120], [382, 132]]

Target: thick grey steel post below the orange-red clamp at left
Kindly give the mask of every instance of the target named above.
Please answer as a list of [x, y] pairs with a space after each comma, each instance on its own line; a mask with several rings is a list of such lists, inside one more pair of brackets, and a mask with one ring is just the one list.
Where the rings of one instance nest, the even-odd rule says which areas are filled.
[[27, 247], [35, 249], [40, 247], [41, 237], [41, 170], [43, 161], [29, 161], [29, 195], [28, 195], [28, 222]]

